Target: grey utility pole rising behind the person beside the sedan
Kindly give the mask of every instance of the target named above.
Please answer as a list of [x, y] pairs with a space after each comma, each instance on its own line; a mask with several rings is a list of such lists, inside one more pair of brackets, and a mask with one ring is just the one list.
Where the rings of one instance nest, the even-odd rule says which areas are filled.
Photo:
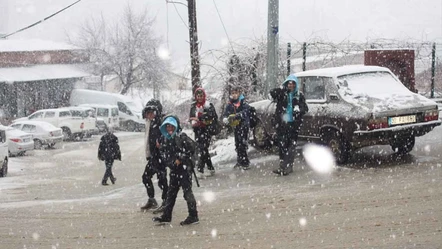
[[265, 93], [278, 85], [279, 0], [269, 0], [267, 17], [267, 68]]

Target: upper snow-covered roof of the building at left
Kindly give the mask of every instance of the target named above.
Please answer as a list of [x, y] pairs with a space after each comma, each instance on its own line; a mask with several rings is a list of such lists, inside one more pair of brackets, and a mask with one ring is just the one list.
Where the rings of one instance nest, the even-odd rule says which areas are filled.
[[40, 39], [0, 39], [0, 52], [77, 50], [78, 47]]

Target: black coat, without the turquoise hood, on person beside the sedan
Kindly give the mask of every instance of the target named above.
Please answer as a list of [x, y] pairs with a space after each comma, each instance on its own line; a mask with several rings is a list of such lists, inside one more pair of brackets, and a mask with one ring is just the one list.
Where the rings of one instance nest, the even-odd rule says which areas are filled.
[[[275, 116], [273, 117], [274, 125], [279, 128], [283, 125], [282, 117], [287, 111], [288, 92], [285, 88], [274, 88], [270, 91], [273, 101], [276, 102]], [[292, 106], [299, 106], [299, 112], [293, 111], [293, 119], [298, 127], [302, 124], [302, 117], [308, 112], [308, 106], [305, 102], [304, 95], [300, 92], [298, 97], [292, 99]]]

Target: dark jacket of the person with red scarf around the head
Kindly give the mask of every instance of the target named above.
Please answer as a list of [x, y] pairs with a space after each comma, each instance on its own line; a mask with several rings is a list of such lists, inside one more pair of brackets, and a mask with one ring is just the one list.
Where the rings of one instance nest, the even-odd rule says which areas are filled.
[[194, 101], [192, 105], [190, 106], [190, 113], [189, 117], [197, 117], [199, 121], [191, 121], [192, 127], [195, 128], [206, 128], [208, 125], [210, 125], [213, 121], [218, 119], [218, 116], [216, 115], [215, 106], [206, 100], [206, 92], [203, 88], [197, 88], [195, 90], [194, 96], [196, 99], [196, 93], [198, 91], [202, 91], [204, 94], [204, 101], [203, 103], [198, 103], [197, 101]]

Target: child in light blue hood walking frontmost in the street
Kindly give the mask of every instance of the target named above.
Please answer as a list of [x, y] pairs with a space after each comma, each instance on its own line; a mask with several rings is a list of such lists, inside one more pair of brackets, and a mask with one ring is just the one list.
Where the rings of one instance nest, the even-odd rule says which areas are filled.
[[164, 224], [172, 221], [172, 212], [180, 188], [183, 189], [184, 199], [187, 202], [188, 217], [180, 225], [199, 223], [195, 196], [192, 192], [192, 155], [195, 152], [194, 141], [184, 132], [181, 132], [180, 121], [176, 116], [167, 116], [161, 125], [163, 141], [161, 151], [163, 160], [170, 168], [169, 190], [163, 214], [152, 218], [154, 223]]

